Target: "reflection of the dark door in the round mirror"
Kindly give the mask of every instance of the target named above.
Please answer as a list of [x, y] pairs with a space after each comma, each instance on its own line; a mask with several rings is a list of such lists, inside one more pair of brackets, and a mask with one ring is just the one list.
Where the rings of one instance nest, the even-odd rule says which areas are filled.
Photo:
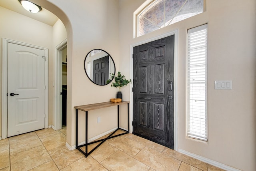
[[93, 82], [98, 85], [105, 85], [108, 80], [109, 56], [93, 61]]

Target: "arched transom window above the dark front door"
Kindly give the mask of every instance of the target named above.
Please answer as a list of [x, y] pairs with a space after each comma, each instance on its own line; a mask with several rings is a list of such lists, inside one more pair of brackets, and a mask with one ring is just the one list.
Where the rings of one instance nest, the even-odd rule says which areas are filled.
[[137, 14], [137, 36], [185, 20], [204, 11], [204, 0], [153, 0]]

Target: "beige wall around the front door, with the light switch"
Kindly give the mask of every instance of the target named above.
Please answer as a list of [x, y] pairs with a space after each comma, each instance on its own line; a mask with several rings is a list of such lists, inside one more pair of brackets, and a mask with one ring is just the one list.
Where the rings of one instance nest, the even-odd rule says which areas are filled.
[[[178, 29], [178, 148], [230, 167], [255, 170], [256, 2], [207, 0], [203, 14], [133, 39], [133, 13], [144, 1], [119, 1], [122, 72], [132, 72], [130, 45]], [[209, 135], [208, 142], [201, 142], [186, 137], [186, 32], [205, 23]], [[232, 80], [233, 89], [215, 90], [215, 80]]]

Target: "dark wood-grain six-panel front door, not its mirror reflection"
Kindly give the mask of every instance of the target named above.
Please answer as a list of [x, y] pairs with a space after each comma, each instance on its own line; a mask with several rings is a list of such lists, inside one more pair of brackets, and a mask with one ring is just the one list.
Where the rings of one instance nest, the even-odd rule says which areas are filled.
[[133, 134], [174, 149], [174, 35], [133, 53]]

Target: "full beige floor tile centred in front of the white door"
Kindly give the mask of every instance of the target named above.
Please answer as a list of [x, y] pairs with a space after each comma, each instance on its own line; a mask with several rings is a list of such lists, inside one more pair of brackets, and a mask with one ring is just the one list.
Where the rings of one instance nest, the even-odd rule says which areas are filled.
[[10, 139], [10, 155], [32, 149], [42, 145], [42, 142], [37, 135], [29, 136], [22, 139], [16, 139], [15, 141]]

